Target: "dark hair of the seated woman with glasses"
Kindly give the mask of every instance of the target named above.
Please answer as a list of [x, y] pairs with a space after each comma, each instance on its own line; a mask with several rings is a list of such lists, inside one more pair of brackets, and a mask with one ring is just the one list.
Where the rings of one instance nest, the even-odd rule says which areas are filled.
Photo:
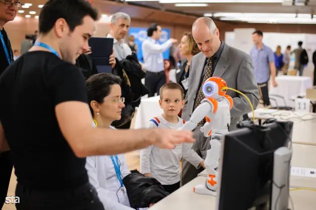
[[108, 96], [113, 84], [121, 84], [122, 80], [119, 76], [115, 76], [111, 73], [97, 73], [90, 76], [87, 81], [87, 94], [90, 111], [93, 115], [93, 109], [90, 106], [92, 100], [98, 103], [104, 102], [104, 97]]

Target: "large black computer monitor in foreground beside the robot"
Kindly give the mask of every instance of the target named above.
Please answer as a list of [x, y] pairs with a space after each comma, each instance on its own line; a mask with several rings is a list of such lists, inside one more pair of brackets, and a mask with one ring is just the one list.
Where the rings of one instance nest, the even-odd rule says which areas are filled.
[[[280, 147], [291, 145], [293, 122], [275, 121], [249, 127], [252, 128], [231, 131], [222, 139], [216, 203], [218, 210], [274, 209], [270, 204], [274, 152]], [[290, 163], [287, 165], [287, 177], [289, 167]]]

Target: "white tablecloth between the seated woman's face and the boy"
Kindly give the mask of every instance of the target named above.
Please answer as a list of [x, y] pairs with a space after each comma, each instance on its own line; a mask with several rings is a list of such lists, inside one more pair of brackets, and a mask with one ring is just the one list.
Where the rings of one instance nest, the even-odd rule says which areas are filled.
[[141, 98], [141, 102], [137, 109], [135, 118], [135, 129], [147, 128], [149, 120], [163, 113], [163, 109], [159, 105], [160, 96]]

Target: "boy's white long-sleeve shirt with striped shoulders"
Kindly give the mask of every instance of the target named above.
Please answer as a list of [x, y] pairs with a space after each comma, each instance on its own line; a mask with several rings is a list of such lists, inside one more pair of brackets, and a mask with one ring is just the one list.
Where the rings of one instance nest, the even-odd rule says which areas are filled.
[[[150, 128], [180, 128], [185, 121], [178, 117], [178, 123], [167, 121], [162, 115], [150, 119]], [[180, 181], [180, 160], [185, 158], [195, 167], [199, 167], [203, 158], [192, 148], [192, 143], [176, 145], [174, 149], [161, 149], [151, 145], [140, 150], [140, 172], [151, 173], [151, 176], [162, 184], [174, 184]]]

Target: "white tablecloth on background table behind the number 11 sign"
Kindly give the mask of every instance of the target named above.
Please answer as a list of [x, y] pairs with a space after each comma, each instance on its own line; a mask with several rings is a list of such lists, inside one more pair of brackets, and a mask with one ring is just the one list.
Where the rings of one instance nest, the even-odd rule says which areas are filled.
[[[309, 76], [289, 76], [281, 75], [275, 78], [277, 87], [270, 86], [269, 97], [275, 98], [278, 106], [295, 107], [294, 101], [291, 97], [294, 95], [306, 94], [306, 89], [312, 87], [311, 78]], [[271, 94], [281, 95], [284, 97], [285, 103], [282, 98], [274, 97]], [[277, 106], [275, 100], [270, 100], [272, 106]]]

